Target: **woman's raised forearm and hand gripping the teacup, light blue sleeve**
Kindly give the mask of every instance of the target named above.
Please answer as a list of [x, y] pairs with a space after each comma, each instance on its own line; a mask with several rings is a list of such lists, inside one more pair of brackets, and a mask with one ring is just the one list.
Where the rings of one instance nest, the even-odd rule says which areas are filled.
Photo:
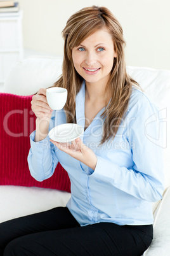
[[[36, 119], [36, 131], [30, 135], [28, 163], [30, 174], [38, 181], [53, 175], [58, 163], [55, 147], [49, 141], [48, 131], [55, 125], [55, 115], [46, 100], [46, 89], [40, 89], [32, 97], [32, 111]], [[52, 145], [52, 146], [51, 146]]]

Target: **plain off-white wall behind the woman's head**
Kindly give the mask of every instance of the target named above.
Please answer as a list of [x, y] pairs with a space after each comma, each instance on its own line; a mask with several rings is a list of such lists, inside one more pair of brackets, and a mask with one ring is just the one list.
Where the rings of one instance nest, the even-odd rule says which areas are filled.
[[121, 23], [129, 66], [170, 69], [169, 0], [20, 0], [24, 47], [62, 55], [67, 19], [93, 4], [109, 8]]

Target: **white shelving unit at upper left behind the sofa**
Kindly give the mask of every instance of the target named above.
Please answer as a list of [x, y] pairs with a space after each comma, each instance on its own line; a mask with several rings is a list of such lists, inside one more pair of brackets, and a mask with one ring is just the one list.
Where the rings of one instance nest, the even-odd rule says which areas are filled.
[[0, 87], [16, 62], [23, 59], [22, 11], [0, 13]]

